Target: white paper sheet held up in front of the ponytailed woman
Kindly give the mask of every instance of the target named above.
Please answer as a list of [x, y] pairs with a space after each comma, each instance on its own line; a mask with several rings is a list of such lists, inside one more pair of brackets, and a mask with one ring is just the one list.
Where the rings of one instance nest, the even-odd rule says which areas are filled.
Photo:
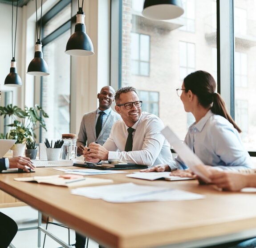
[[191, 171], [198, 175], [203, 181], [210, 183], [211, 180], [209, 176], [211, 172], [204, 168], [203, 162], [191, 151], [187, 144], [181, 142], [169, 127], [165, 127], [161, 132]]

